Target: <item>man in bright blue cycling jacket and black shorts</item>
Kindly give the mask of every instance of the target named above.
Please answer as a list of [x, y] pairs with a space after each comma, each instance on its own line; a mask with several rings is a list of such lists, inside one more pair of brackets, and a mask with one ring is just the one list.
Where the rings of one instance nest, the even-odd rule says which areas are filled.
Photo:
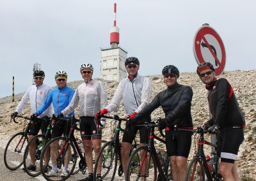
[[[38, 115], [41, 115], [52, 103], [54, 108], [54, 114], [59, 115], [61, 111], [68, 106], [70, 103], [73, 95], [74, 95], [74, 89], [67, 86], [67, 78], [68, 75], [65, 71], [57, 71], [55, 77], [55, 81], [57, 83], [57, 87], [53, 89], [49, 96], [47, 97], [46, 101], [44, 102], [44, 105], [42, 105], [34, 114], [33, 117], [37, 117]], [[69, 116], [74, 115], [74, 112], [70, 113]], [[61, 118], [61, 117], [58, 117]], [[63, 118], [65, 119], [65, 117]], [[60, 121], [58, 124], [54, 125], [52, 128], [52, 136], [51, 138], [56, 138], [58, 136], [61, 136], [62, 134], [68, 134], [68, 126], [66, 121]], [[57, 147], [58, 143], [52, 143], [51, 147], [51, 157], [57, 157], [58, 152]], [[71, 150], [68, 150], [70, 152], [71, 157]], [[68, 175], [68, 160], [65, 159], [65, 163], [63, 166], [63, 169], [61, 171], [61, 177], [66, 177]], [[53, 159], [52, 159], [53, 161]], [[56, 161], [53, 161], [52, 163], [52, 170], [47, 173], [49, 177], [57, 176], [57, 163]]]

